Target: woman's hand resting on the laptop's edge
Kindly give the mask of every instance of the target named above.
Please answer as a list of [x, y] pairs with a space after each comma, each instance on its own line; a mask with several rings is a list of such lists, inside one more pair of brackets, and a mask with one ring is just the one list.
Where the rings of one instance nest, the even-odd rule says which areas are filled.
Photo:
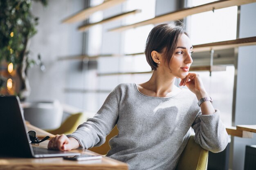
[[54, 150], [72, 150], [79, 148], [79, 142], [73, 137], [67, 137], [66, 135], [56, 135], [48, 143], [49, 149]]

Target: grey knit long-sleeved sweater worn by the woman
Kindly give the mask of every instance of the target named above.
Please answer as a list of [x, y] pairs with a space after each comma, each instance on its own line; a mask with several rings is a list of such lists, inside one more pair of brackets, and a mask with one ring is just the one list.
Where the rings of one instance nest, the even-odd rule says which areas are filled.
[[138, 91], [136, 84], [119, 84], [97, 114], [68, 137], [82, 148], [105, 143], [117, 124], [119, 134], [110, 141], [107, 156], [128, 163], [130, 170], [174, 170], [191, 135], [211, 152], [228, 144], [220, 112], [202, 115], [196, 96], [187, 89], [173, 97], [151, 97]]

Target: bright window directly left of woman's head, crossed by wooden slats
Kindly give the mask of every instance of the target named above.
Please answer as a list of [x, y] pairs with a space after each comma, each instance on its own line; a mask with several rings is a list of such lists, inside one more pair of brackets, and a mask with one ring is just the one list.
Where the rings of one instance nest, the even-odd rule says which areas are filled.
[[[141, 9], [141, 13], [125, 18], [124, 24], [133, 24], [143, 20], [148, 20], [155, 17], [155, 0], [147, 0], [147, 5], [143, 0], [128, 0], [124, 7], [125, 11]], [[153, 24], [140, 26], [135, 29], [128, 29], [124, 31], [123, 49], [124, 54], [141, 53], [145, 49], [146, 40], [149, 32], [154, 27]], [[120, 62], [121, 72], [145, 72], [151, 71], [150, 66], [146, 62], [145, 55], [126, 56]], [[130, 82], [146, 82], [150, 74], [136, 74], [123, 76], [122, 80]]]

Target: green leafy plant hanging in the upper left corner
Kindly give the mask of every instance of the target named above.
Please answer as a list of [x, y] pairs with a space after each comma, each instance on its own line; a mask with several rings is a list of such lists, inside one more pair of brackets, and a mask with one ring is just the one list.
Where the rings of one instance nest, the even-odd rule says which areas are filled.
[[[47, 0], [34, 1], [47, 5]], [[18, 93], [26, 88], [27, 68], [34, 62], [28, 58], [27, 49], [38, 24], [38, 18], [30, 11], [31, 3], [31, 0], [0, 0], [0, 64], [13, 63], [20, 77]]]

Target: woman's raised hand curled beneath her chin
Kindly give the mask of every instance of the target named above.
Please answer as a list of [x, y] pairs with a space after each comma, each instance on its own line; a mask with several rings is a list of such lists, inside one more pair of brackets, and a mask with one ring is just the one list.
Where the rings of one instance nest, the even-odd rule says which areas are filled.
[[202, 79], [196, 73], [189, 73], [184, 79], [181, 80], [180, 86], [187, 86], [190, 91], [195, 93], [198, 99], [207, 96]]

